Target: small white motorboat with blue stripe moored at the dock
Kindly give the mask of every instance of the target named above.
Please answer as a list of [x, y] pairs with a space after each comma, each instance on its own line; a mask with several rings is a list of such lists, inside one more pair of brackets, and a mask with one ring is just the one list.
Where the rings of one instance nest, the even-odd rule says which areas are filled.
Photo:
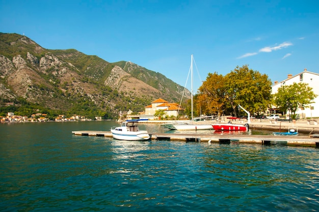
[[114, 139], [126, 141], [143, 141], [150, 138], [147, 130], [140, 130], [139, 121], [146, 121], [148, 119], [134, 119], [122, 122], [121, 126], [112, 127], [111, 133]]

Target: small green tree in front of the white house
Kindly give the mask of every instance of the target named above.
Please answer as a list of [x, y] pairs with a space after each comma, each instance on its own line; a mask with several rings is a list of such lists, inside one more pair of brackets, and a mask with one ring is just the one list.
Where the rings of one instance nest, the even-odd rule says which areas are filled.
[[281, 111], [288, 111], [292, 119], [296, 119], [296, 111], [309, 107], [313, 99], [317, 97], [312, 88], [305, 83], [281, 86], [274, 94], [274, 104]]

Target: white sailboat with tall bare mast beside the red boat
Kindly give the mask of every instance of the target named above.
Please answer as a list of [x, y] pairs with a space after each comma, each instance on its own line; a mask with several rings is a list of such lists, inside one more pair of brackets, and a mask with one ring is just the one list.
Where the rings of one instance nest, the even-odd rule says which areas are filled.
[[[191, 101], [192, 101], [192, 120], [190, 122], [183, 122], [183, 123], [174, 123], [172, 124], [173, 127], [172, 129], [177, 129], [177, 130], [202, 130], [202, 129], [213, 129], [211, 123], [198, 123], [199, 118], [202, 117], [198, 117], [194, 119], [193, 116], [193, 61], [194, 61], [194, 57], [193, 55], [191, 56], [191, 91], [192, 91], [192, 95], [191, 95]], [[211, 116], [210, 116], [211, 118]]]

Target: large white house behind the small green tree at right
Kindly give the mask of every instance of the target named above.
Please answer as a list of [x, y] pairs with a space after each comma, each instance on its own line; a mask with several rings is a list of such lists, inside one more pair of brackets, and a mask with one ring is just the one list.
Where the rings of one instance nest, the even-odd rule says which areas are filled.
[[283, 85], [292, 85], [294, 83], [306, 83], [312, 88], [312, 91], [318, 95], [311, 103], [308, 108], [298, 109], [296, 114], [299, 114], [300, 118], [312, 118], [319, 117], [319, 74], [307, 71], [304, 69], [303, 72], [293, 76], [288, 74], [288, 78], [284, 81], [277, 82], [272, 86], [272, 94], [277, 93], [278, 88]]

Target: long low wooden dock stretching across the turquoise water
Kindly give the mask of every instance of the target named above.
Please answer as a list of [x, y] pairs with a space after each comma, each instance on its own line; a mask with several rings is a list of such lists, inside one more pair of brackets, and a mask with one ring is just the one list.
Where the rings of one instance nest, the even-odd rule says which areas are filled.
[[[111, 131], [72, 131], [76, 136], [98, 136], [112, 138]], [[216, 134], [166, 134], [151, 133], [151, 140], [185, 141], [185, 142], [209, 142], [209, 143], [246, 143], [261, 145], [293, 145], [293, 146], [313, 146], [319, 148], [319, 138], [309, 136], [273, 136], [273, 135], [216, 135]]]

